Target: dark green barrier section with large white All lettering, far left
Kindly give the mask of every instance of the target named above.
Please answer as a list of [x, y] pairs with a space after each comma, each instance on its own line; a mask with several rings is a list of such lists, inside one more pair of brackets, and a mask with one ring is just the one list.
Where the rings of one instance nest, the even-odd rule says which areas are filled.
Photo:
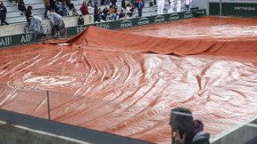
[[0, 49], [17, 44], [28, 44], [36, 42], [35, 33], [26, 33], [15, 36], [3, 36], [0, 37]]

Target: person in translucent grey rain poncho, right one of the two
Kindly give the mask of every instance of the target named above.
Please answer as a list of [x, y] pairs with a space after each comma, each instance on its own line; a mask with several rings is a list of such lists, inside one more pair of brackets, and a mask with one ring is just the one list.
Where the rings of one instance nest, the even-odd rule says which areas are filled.
[[50, 24], [54, 37], [63, 36], [65, 30], [65, 23], [62, 16], [58, 13], [52, 12], [50, 16]]

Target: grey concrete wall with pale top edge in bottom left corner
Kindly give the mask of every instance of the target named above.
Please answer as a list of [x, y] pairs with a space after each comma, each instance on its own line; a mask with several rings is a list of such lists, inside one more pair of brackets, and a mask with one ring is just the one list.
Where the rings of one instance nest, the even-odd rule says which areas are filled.
[[0, 144], [88, 144], [60, 135], [41, 132], [27, 127], [0, 121]]

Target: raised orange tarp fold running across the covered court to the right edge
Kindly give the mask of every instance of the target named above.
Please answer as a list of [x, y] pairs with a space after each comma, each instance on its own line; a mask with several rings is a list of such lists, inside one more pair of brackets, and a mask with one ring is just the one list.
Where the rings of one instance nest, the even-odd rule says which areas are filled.
[[[67, 44], [79, 48], [115, 52], [145, 52], [174, 56], [185, 55], [226, 55], [255, 58], [257, 40], [226, 39], [179, 39], [167, 37], [139, 36], [89, 26], [68, 40], [46, 42], [44, 44]], [[241, 45], [244, 51], [241, 52]], [[239, 53], [239, 54], [238, 54]]]

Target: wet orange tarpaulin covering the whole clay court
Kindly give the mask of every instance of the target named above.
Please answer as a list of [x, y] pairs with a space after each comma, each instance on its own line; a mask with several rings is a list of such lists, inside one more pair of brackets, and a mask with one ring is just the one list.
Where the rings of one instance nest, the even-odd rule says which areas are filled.
[[256, 115], [257, 19], [199, 18], [0, 50], [0, 108], [170, 143], [169, 112], [214, 137]]

